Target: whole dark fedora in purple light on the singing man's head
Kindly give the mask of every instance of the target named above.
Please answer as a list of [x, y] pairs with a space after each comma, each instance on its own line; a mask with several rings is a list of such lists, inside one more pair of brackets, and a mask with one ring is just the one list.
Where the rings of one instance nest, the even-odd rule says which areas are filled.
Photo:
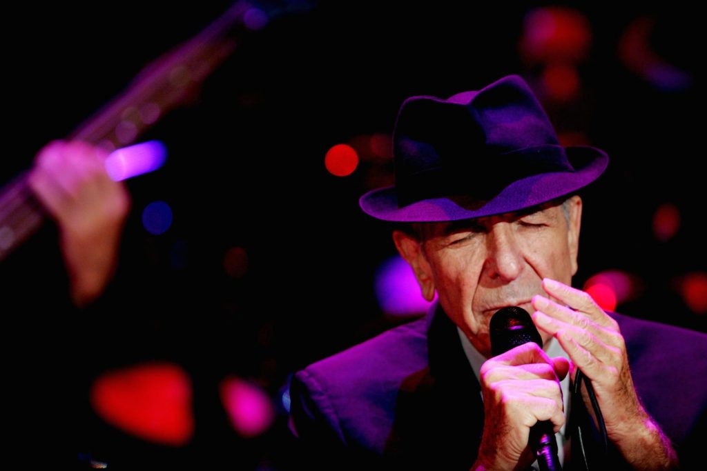
[[443, 100], [416, 96], [393, 133], [395, 186], [361, 196], [367, 214], [435, 222], [510, 213], [565, 196], [604, 172], [609, 156], [564, 148], [519, 76]]

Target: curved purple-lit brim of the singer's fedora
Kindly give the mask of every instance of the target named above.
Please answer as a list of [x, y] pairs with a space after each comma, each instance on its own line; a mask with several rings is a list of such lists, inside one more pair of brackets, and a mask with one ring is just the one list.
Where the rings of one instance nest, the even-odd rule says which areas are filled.
[[[484, 217], [547, 203], [587, 186], [607, 168], [609, 156], [585, 145], [566, 148], [574, 172], [549, 172], [514, 181], [488, 201], [461, 203], [459, 198], [433, 198], [398, 207], [395, 186], [368, 191], [358, 204], [364, 213], [391, 222], [443, 222]], [[473, 177], [469, 185], [473, 185]]]

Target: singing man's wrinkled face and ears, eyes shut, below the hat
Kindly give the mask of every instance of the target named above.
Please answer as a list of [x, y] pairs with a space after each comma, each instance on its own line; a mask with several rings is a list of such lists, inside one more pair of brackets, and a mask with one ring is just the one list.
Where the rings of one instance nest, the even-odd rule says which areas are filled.
[[[448, 316], [474, 347], [491, 357], [489, 322], [504, 306], [532, 314], [530, 300], [547, 294], [542, 279], [571, 284], [577, 271], [582, 200], [475, 220], [428, 223], [422, 237], [394, 232], [395, 243], [412, 266], [423, 295], [436, 291]], [[542, 332], [547, 343], [549, 335]]]

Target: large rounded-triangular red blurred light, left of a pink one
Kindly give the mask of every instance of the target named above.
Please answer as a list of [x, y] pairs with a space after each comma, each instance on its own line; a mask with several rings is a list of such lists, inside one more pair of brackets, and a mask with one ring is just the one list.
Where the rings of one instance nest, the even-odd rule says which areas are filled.
[[90, 400], [105, 422], [147, 441], [182, 446], [194, 434], [191, 382], [175, 364], [108, 371], [94, 381]]

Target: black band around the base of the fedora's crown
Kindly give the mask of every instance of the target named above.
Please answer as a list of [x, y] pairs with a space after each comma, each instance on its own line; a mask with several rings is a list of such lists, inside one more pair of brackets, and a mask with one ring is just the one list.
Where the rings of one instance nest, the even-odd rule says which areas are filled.
[[[440, 162], [439, 157], [434, 160]], [[395, 184], [398, 207], [445, 196], [489, 201], [513, 181], [537, 174], [575, 171], [564, 148], [552, 144], [474, 156], [466, 161], [473, 163], [451, 168], [436, 165], [399, 176]]]

